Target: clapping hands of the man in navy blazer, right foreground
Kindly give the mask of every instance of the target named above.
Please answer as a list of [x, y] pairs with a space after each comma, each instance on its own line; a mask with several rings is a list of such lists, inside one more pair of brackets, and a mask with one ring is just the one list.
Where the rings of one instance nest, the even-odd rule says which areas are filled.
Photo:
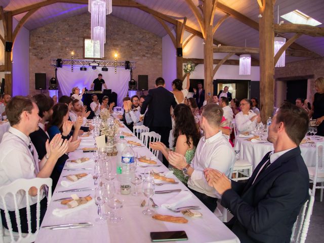
[[219, 194], [222, 195], [226, 190], [232, 188], [230, 180], [228, 180], [224, 173], [207, 168], [204, 170], [204, 174], [208, 185], [214, 187]]

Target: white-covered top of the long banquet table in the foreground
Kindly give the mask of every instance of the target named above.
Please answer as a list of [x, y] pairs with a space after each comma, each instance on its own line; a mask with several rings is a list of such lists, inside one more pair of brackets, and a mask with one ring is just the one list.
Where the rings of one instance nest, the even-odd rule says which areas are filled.
[[[131, 133], [127, 128], [121, 128], [121, 131]], [[126, 137], [127, 140], [134, 140], [140, 142], [136, 137]], [[94, 142], [94, 141], [92, 141]], [[83, 142], [80, 144], [80, 148], [89, 147], [88, 144]], [[146, 155], [147, 157], [152, 157], [153, 154], [146, 147], [134, 147], [133, 148], [138, 155]], [[70, 159], [80, 158], [84, 156], [93, 156], [92, 153], [83, 153], [82, 150], [76, 150], [69, 154]], [[115, 170], [116, 156], [110, 157], [113, 163], [113, 170]], [[137, 172], [144, 172], [145, 169], [156, 169], [158, 172], [167, 172], [168, 169], [155, 157], [157, 163], [161, 167], [148, 167], [140, 168], [137, 167]], [[94, 163], [88, 165], [80, 165], [80, 168], [94, 168]], [[76, 173], [93, 173], [93, 171], [77, 171]], [[77, 213], [72, 213], [63, 217], [57, 217], [52, 214], [55, 208], [63, 208], [60, 202], [54, 202], [53, 200], [67, 197], [72, 193], [57, 193], [57, 191], [66, 190], [69, 188], [61, 186], [60, 182], [63, 176], [69, 174], [76, 174], [73, 171], [63, 171], [60, 177], [60, 180], [57, 184], [57, 187], [54, 191], [52, 201], [47, 209], [46, 215], [44, 217], [42, 226], [48, 225], [58, 225], [58, 224], [67, 224], [67, 223], [80, 223], [80, 222], [90, 222], [93, 223], [92, 227], [76, 228], [76, 229], [63, 229], [63, 230], [51, 230], [41, 228], [39, 230], [37, 239], [35, 242], [151, 242], [150, 232], [153, 231], [174, 231], [174, 230], [185, 230], [188, 235], [188, 240], [186, 242], [239, 242], [239, 239], [235, 234], [233, 234], [207, 207], [199, 201], [197, 197], [192, 194], [192, 197], [187, 201], [183, 202], [179, 207], [189, 206], [189, 205], [198, 205], [201, 209], [200, 213], [203, 214], [200, 218], [189, 218], [188, 223], [186, 224], [177, 224], [170, 222], [163, 222], [152, 219], [151, 216], [146, 216], [142, 214], [144, 208], [140, 207], [140, 204], [143, 199], [147, 199], [144, 195], [133, 196], [121, 195], [119, 194], [117, 198], [123, 199], [123, 208], [117, 210], [118, 214], [123, 217], [123, 221], [113, 224], [109, 221], [104, 223], [96, 223], [95, 219], [98, 218], [97, 215], [97, 206], [95, 204], [90, 205], [87, 208], [84, 208]], [[170, 177], [175, 178], [176, 181], [179, 181], [174, 175]], [[64, 179], [64, 178], [63, 178]], [[114, 184], [116, 188], [118, 187], [118, 181], [114, 179]], [[93, 179], [88, 181], [80, 182], [77, 186], [71, 188], [82, 188], [89, 187], [94, 188]], [[132, 186], [133, 187], [133, 186]], [[138, 186], [140, 189], [141, 185]], [[182, 184], [171, 184], [171, 185], [162, 185], [156, 186], [155, 190], [166, 190], [166, 189], [183, 189], [187, 190], [188, 188]], [[132, 188], [133, 189], [133, 188]], [[86, 196], [88, 194], [94, 198], [94, 191], [85, 191], [78, 192], [78, 196]], [[167, 200], [173, 198], [177, 195], [178, 192], [166, 193], [166, 194], [154, 194], [153, 199], [157, 205], [165, 203]], [[173, 215], [173, 216], [183, 216], [181, 213], [174, 213], [166, 208], [158, 207], [155, 209], [156, 213], [163, 215]]]

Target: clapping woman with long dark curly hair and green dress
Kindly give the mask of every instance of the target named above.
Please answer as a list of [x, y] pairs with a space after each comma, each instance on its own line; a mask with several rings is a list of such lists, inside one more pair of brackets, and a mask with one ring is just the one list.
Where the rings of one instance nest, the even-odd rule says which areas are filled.
[[[174, 108], [175, 127], [173, 130], [174, 144], [172, 151], [182, 154], [186, 158], [186, 163], [191, 164], [191, 160], [196, 151], [196, 146], [199, 142], [200, 134], [195, 126], [194, 117], [189, 106], [179, 104]], [[169, 160], [169, 151], [161, 142], [150, 143], [150, 147], [155, 150], [160, 150], [163, 155]], [[169, 166], [175, 176], [183, 183], [187, 184], [188, 177], [184, 176], [182, 170], [173, 166]]]

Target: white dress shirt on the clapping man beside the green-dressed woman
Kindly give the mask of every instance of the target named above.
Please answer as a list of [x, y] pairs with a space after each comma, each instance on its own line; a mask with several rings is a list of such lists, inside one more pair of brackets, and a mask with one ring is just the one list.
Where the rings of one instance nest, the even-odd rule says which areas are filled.
[[229, 176], [234, 161], [235, 152], [221, 131], [208, 139], [200, 138], [190, 165], [194, 171], [188, 180], [188, 187], [208, 196], [220, 198], [215, 188], [208, 185], [204, 170], [212, 168]]

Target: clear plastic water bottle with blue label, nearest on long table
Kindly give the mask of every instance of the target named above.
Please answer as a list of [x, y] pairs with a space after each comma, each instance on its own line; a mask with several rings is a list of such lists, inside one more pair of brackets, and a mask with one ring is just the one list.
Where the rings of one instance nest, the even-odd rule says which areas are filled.
[[127, 146], [121, 153], [121, 185], [131, 185], [130, 179], [135, 172], [135, 153]]

